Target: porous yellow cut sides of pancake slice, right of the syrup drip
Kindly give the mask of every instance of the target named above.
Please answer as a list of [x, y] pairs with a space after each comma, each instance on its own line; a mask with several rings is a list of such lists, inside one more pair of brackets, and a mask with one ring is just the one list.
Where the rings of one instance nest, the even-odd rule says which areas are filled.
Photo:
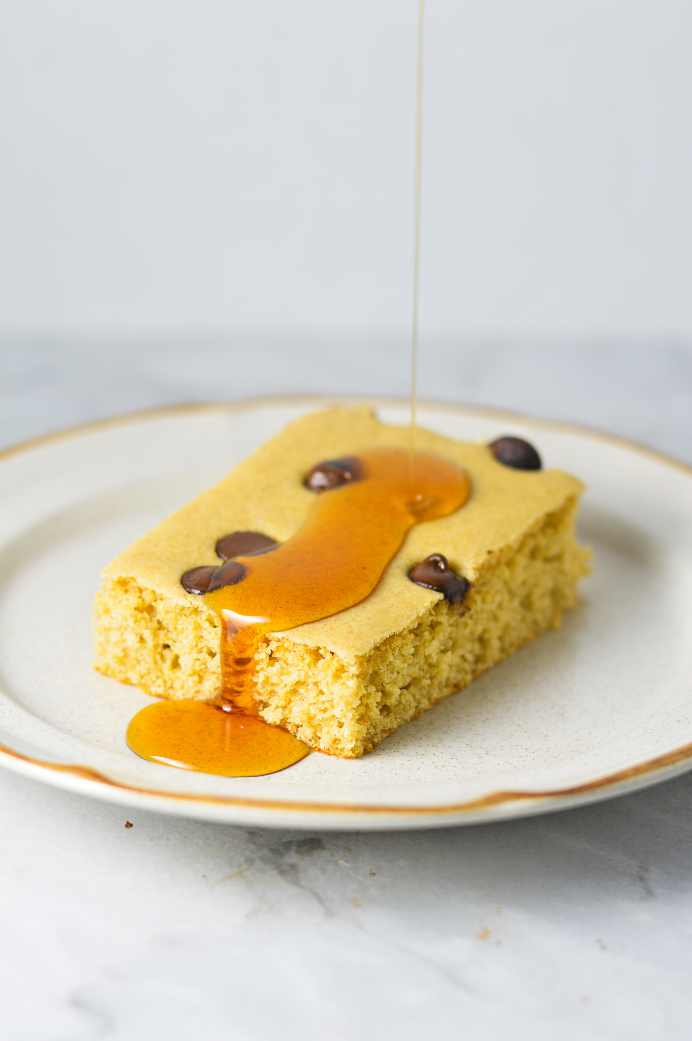
[[576, 504], [497, 554], [460, 605], [441, 598], [415, 626], [343, 658], [275, 636], [258, 653], [257, 700], [267, 722], [336, 756], [370, 752], [388, 734], [546, 629], [576, 601], [586, 553]]

